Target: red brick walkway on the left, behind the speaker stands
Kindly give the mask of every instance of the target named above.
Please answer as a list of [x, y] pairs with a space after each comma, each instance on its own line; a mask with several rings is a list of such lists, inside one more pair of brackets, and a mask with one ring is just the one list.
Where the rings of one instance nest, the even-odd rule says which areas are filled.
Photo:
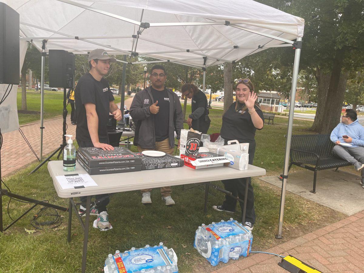
[[[125, 100], [125, 105], [130, 108], [133, 98]], [[70, 112], [67, 116], [67, 134], [73, 135], [75, 139], [76, 126], [71, 124]], [[56, 150], [62, 143], [62, 118], [46, 120], [43, 122], [43, 158]], [[40, 122], [25, 124], [20, 126], [25, 137], [28, 139], [33, 150], [40, 156]], [[1, 148], [1, 176], [5, 177], [9, 173], [36, 161], [37, 158], [30, 150], [29, 146], [21, 136], [19, 131], [3, 134], [3, 147]]]

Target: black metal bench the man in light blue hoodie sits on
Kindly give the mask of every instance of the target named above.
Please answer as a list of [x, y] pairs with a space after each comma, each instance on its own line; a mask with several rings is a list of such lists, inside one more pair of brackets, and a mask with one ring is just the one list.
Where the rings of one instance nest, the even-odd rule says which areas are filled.
[[292, 135], [288, 171], [292, 165], [314, 171], [311, 193], [316, 193], [317, 171], [333, 168], [336, 168], [337, 171], [339, 167], [351, 165], [348, 161], [337, 158], [332, 154], [334, 145], [329, 134]]

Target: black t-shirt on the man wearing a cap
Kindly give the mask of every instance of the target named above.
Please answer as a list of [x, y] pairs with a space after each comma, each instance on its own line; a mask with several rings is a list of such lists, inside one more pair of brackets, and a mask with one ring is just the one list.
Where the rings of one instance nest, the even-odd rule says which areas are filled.
[[99, 118], [99, 139], [107, 138], [106, 124], [110, 113], [110, 102], [114, 96], [110, 86], [104, 78], [100, 81], [90, 74], [83, 75], [75, 88], [75, 106], [77, 114], [76, 139], [79, 141], [91, 141], [87, 127], [85, 103], [96, 105], [96, 114]]

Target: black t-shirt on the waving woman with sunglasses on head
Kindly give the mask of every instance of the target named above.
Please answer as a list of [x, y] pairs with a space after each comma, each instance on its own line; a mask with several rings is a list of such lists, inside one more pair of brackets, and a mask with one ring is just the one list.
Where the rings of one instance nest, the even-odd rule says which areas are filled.
[[[243, 111], [245, 104], [238, 103], [236, 111], [236, 103], [237, 102], [234, 102], [222, 116], [221, 137], [226, 141], [236, 139], [240, 143], [255, 144], [254, 137], [257, 128], [254, 127], [248, 109]], [[262, 110], [260, 110], [256, 105], [254, 108], [264, 122]]]

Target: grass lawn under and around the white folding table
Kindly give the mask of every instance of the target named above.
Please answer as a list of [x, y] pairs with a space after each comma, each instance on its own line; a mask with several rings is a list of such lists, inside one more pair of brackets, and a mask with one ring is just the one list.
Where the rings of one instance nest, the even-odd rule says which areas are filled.
[[[187, 106], [187, 114], [189, 111], [190, 106]], [[221, 116], [222, 110], [210, 110], [212, 122], [209, 133], [220, 131]], [[254, 165], [265, 167], [267, 173], [281, 174], [287, 122], [287, 118], [276, 116], [274, 125], [265, 124], [263, 130], [257, 131]], [[309, 133], [306, 129], [311, 123], [312, 121], [294, 120], [293, 133]], [[187, 124], [185, 124], [186, 127]], [[132, 150], [135, 150], [134, 146]], [[68, 199], [57, 196], [46, 165], [35, 174], [28, 175], [36, 165], [37, 163], [34, 163], [5, 178], [5, 183], [17, 194], [39, 200], [48, 199], [50, 203], [68, 207]], [[161, 175], [162, 172], [163, 170]], [[120, 179], [122, 177], [123, 175], [120, 174]], [[219, 181], [214, 184], [222, 187]], [[253, 250], [265, 250], [283, 242], [274, 239], [280, 194], [277, 189], [257, 178], [253, 178], [253, 187], [257, 214], [253, 230]], [[240, 213], [232, 215], [214, 211], [211, 206], [221, 204], [223, 194], [212, 189], [210, 193], [207, 215], [203, 215], [202, 185], [185, 191], [182, 191], [182, 186], [174, 186], [172, 196], [177, 204], [173, 207], [163, 204], [159, 189], [152, 191], [153, 205], [151, 206], [141, 204], [140, 191], [115, 194], [108, 205], [113, 229], [108, 232], [99, 232], [90, 227], [87, 272], [101, 272], [107, 254], [114, 253], [117, 249], [124, 251], [146, 244], [156, 245], [159, 242], [175, 250], [178, 256], [179, 272], [191, 272], [197, 267], [202, 268], [199, 272], [210, 272], [220, 268], [222, 265], [212, 267], [207, 264], [193, 248], [195, 230], [201, 223], [218, 222], [230, 217], [238, 219]], [[5, 224], [11, 222], [6, 215], [7, 202], [8, 198], [3, 197]], [[29, 204], [12, 201], [9, 211], [14, 218], [29, 207]], [[24, 228], [33, 229], [29, 221], [39, 209], [37, 207], [4, 234], [0, 234], [0, 272], [80, 272], [83, 232], [75, 215], [72, 221], [72, 241], [68, 243], [66, 213], [61, 213], [65, 218], [62, 218], [63, 224], [57, 230], [40, 230], [32, 235], [24, 232]], [[288, 193], [284, 218], [285, 240], [294, 236], [290, 233], [294, 230], [305, 230], [308, 233], [312, 231], [315, 224], [325, 225], [340, 219], [339, 214], [328, 217], [330, 211], [314, 202]], [[90, 225], [94, 219], [95, 217], [91, 217]]]

